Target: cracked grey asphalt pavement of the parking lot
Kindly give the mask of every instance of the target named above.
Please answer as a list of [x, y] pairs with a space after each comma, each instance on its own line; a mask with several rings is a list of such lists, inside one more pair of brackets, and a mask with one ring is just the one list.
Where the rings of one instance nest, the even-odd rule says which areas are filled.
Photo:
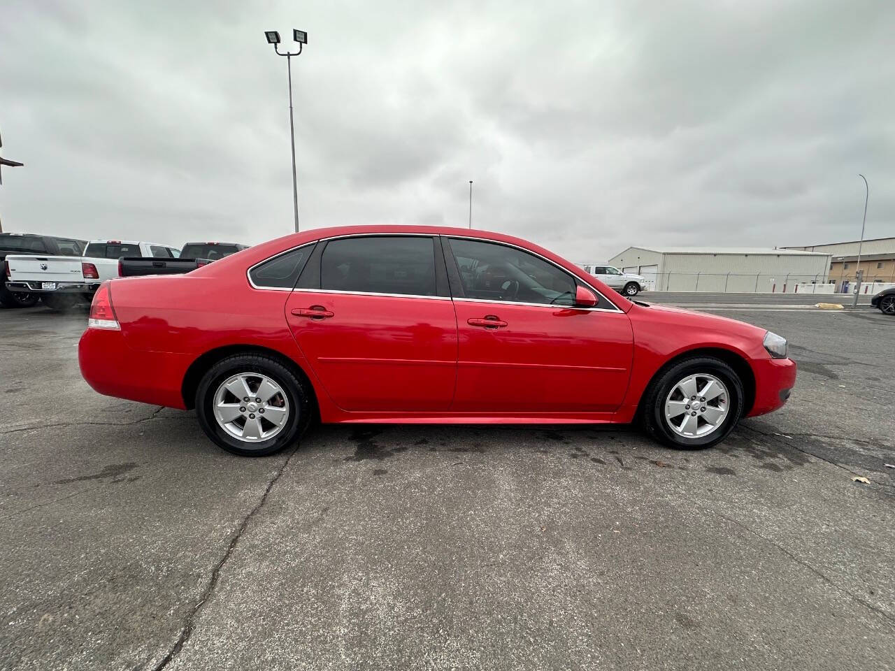
[[718, 448], [330, 426], [262, 459], [92, 392], [83, 315], [0, 311], [0, 667], [892, 668], [895, 319], [703, 309], [800, 366]]

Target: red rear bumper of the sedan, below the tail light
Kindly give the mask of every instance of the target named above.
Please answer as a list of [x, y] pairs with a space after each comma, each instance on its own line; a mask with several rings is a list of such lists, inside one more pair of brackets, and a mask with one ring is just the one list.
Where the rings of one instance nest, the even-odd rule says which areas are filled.
[[78, 344], [81, 376], [100, 394], [184, 409], [181, 384], [192, 357], [128, 347], [121, 331], [88, 328]]

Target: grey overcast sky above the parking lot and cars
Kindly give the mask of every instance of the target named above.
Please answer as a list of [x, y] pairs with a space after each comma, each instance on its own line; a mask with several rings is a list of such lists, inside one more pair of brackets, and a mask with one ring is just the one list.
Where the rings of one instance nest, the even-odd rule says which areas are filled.
[[4, 230], [255, 243], [467, 224], [628, 245], [895, 235], [895, 3], [0, 0]]

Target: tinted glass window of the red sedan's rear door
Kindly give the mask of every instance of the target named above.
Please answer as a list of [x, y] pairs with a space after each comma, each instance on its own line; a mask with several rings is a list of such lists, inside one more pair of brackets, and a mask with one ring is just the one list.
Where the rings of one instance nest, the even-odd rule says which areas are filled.
[[435, 296], [435, 241], [398, 235], [331, 240], [320, 259], [320, 288]]

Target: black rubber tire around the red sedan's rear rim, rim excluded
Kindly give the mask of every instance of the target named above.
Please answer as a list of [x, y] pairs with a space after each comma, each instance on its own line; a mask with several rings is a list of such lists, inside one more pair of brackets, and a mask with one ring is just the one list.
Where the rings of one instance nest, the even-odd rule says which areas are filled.
[[[254, 443], [246, 443], [231, 436], [218, 423], [214, 415], [214, 396], [217, 388], [234, 375], [260, 373], [272, 379], [283, 389], [289, 403], [286, 426], [277, 435]], [[311, 421], [313, 390], [302, 378], [282, 363], [263, 354], [234, 354], [218, 361], [202, 376], [196, 389], [196, 414], [206, 435], [217, 446], [240, 456], [265, 456], [294, 445]]]

